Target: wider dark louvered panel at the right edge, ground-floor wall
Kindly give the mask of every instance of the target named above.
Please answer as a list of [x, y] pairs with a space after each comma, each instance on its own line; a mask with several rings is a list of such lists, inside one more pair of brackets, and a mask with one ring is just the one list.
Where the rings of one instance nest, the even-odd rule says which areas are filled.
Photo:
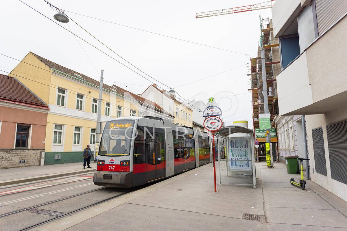
[[331, 178], [347, 184], [347, 121], [327, 126]]

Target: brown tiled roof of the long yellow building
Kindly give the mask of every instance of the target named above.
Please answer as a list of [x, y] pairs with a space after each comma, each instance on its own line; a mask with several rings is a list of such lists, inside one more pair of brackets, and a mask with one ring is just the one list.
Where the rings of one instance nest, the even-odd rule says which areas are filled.
[[[45, 59], [44, 57], [41, 57], [41, 56], [39, 56], [39, 55], [37, 55], [37, 54], [35, 54], [33, 52], [30, 52], [30, 53], [33, 54], [41, 62], [43, 62], [44, 64], [49, 66], [49, 68], [53, 68], [55, 70], [58, 70], [58, 71], [61, 71], [61, 72], [65, 73], [65, 74], [71, 75], [71, 76], [73, 76], [75, 78], [79, 78], [79, 79], [84, 80], [86, 82], [92, 83], [92, 84], [94, 84], [94, 85], [96, 85], [98, 87], [100, 86], [100, 82], [98, 80], [92, 79], [92, 78], [88, 77], [87, 75], [84, 75], [82, 73], [79, 73], [79, 72], [71, 70], [71, 69], [68, 69], [68, 68], [66, 68], [66, 67], [64, 67], [62, 65], [57, 64], [57, 63], [54, 63], [54, 62], [52, 62], [52, 61], [50, 61], [48, 59]], [[109, 86], [109, 85], [106, 85], [105, 83], [102, 84], [102, 87], [104, 89], [112, 91], [112, 87]], [[120, 94], [120, 95], [123, 95], [124, 92], [120, 91], [120, 92], [117, 92], [117, 93]]]

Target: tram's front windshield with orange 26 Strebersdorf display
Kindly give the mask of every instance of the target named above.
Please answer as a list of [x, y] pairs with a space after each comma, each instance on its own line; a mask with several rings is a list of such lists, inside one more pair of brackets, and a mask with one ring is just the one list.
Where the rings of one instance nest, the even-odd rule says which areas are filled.
[[135, 132], [134, 120], [109, 121], [105, 125], [100, 143], [100, 156], [129, 156]]

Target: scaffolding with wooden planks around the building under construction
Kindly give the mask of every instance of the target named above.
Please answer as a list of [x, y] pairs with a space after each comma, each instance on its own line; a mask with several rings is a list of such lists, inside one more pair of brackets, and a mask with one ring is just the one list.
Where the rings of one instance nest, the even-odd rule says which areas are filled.
[[281, 70], [280, 51], [278, 38], [273, 37], [272, 19], [261, 18], [260, 21], [260, 41], [258, 46], [257, 57], [250, 59], [251, 61], [251, 76], [249, 80], [250, 89], [252, 92], [252, 107], [253, 107], [253, 130], [259, 128], [259, 114], [264, 112], [264, 96], [262, 92], [262, 64], [261, 50], [265, 50], [265, 73], [266, 85], [268, 89], [268, 105], [270, 111], [271, 122], [278, 115], [278, 98], [276, 78]]

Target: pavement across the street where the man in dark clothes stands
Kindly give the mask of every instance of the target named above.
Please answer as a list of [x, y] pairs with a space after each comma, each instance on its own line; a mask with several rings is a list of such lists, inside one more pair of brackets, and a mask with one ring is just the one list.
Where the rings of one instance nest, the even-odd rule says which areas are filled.
[[0, 169], [0, 186], [95, 171], [96, 163], [94, 163], [94, 161], [91, 160], [90, 166], [92, 168], [83, 169], [83, 162], [78, 162], [59, 165]]

